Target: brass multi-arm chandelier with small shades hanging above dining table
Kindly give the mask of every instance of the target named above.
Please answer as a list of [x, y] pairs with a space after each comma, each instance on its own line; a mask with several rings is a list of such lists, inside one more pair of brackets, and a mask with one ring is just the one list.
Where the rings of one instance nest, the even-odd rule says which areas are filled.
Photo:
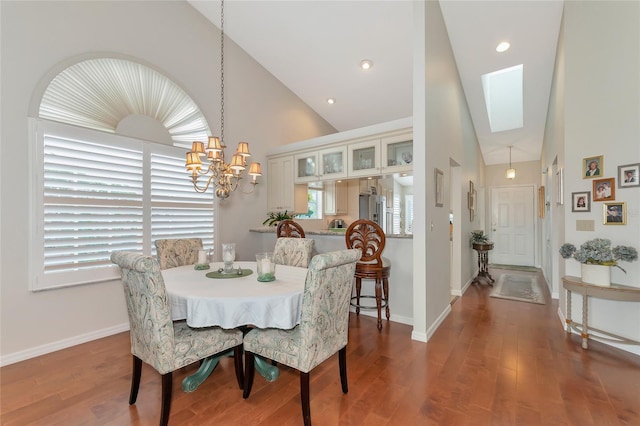
[[[191, 151], [187, 152], [185, 166], [191, 173], [193, 188], [197, 192], [205, 192], [209, 186], [215, 188], [216, 197], [225, 199], [240, 187], [240, 180], [247, 169], [249, 144], [239, 142], [231, 162], [224, 158], [224, 0], [220, 5], [220, 137], [209, 136], [205, 148], [200, 141], [193, 142]], [[203, 163], [204, 159], [204, 163]], [[251, 188], [247, 194], [253, 192], [258, 184], [258, 176], [262, 176], [260, 163], [251, 163], [248, 175], [251, 176]], [[198, 185], [200, 177], [204, 179], [204, 186]], [[244, 191], [243, 191], [244, 192]]]

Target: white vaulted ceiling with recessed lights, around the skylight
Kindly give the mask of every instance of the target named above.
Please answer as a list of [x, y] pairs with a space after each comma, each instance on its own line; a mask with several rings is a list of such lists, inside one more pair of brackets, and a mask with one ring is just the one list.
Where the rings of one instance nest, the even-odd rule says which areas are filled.
[[[219, 27], [220, 3], [189, 3]], [[225, 2], [225, 33], [338, 131], [412, 115], [413, 2]], [[485, 163], [540, 158], [563, 2], [440, 0]], [[495, 48], [511, 44], [504, 53]], [[373, 62], [369, 70], [362, 60]], [[492, 133], [481, 76], [523, 65], [524, 126]], [[335, 103], [327, 103], [328, 98]]]

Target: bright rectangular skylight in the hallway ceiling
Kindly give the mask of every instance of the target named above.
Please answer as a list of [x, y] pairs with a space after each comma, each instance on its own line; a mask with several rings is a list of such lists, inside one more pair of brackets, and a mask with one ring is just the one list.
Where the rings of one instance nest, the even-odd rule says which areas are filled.
[[492, 132], [519, 129], [522, 116], [523, 65], [490, 72], [482, 76], [482, 89]]

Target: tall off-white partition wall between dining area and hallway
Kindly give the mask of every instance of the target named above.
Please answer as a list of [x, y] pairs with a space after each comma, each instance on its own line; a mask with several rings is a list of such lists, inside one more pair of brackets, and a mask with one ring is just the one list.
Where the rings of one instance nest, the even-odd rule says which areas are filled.
[[[426, 340], [449, 311], [449, 211], [451, 200], [435, 207], [434, 170], [445, 176], [444, 194], [450, 194], [450, 164], [462, 166], [461, 188], [466, 197], [469, 180], [482, 187], [484, 167], [471, 117], [464, 98], [440, 4], [416, 2], [414, 6], [414, 157], [426, 167], [414, 168], [414, 189], [424, 197], [414, 199], [414, 330], [413, 338]], [[466, 198], [465, 198], [466, 199]], [[466, 206], [466, 202], [462, 203]], [[462, 239], [478, 227], [461, 218]], [[467, 240], [468, 241], [468, 240]], [[472, 278], [471, 247], [462, 250], [461, 277]]]

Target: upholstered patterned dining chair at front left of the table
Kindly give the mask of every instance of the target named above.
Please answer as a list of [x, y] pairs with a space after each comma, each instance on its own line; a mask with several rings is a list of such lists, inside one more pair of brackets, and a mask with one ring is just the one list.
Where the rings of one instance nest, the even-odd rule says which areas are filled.
[[142, 362], [162, 375], [160, 425], [171, 411], [173, 371], [203, 358], [233, 349], [236, 379], [244, 385], [242, 332], [218, 327], [195, 329], [184, 321], [173, 322], [164, 280], [155, 257], [118, 251], [111, 261], [120, 267], [127, 301], [133, 372], [129, 404], [138, 397]]

